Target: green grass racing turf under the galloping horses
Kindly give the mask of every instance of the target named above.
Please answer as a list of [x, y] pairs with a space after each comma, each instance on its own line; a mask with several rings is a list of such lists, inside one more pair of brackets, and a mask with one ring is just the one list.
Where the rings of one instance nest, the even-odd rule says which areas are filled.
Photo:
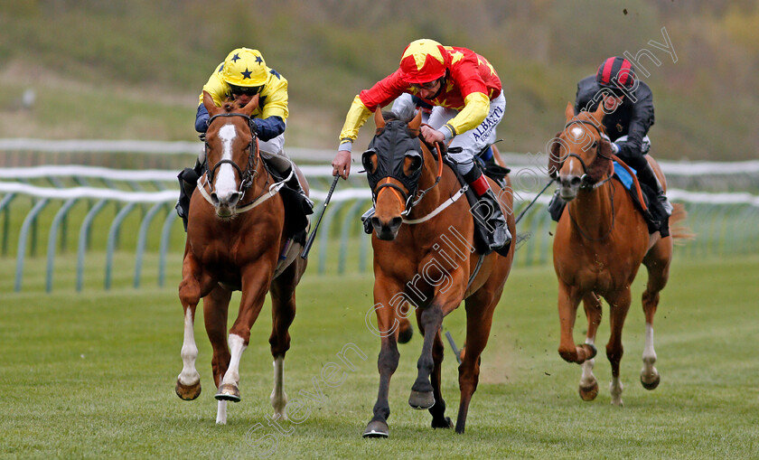
[[[13, 275], [4, 262], [3, 275]], [[173, 261], [174, 271], [178, 262]], [[42, 272], [42, 268], [39, 271]], [[30, 268], [33, 269], [33, 268]], [[273, 448], [276, 458], [756, 458], [759, 456], [759, 258], [676, 260], [655, 321], [661, 385], [639, 382], [643, 348], [640, 306], [643, 275], [633, 289], [622, 361], [623, 408], [609, 404], [611, 371], [604, 357], [608, 310], [596, 343], [593, 402], [577, 395], [580, 368], [558, 348], [553, 269], [517, 268], [496, 310], [483, 373], [464, 436], [432, 430], [426, 411], [408, 407], [421, 341], [400, 346], [390, 388], [390, 438], [361, 432], [377, 396], [379, 339], [364, 324], [371, 305], [369, 275], [306, 277], [298, 291], [285, 364], [289, 398], [313, 390], [335, 353], [354, 343], [368, 355], [354, 358], [340, 386], [323, 382], [322, 403], [308, 401], [301, 424], [267, 425], [272, 385], [267, 338], [270, 308], [253, 326], [240, 366], [242, 401], [229, 423], [214, 423], [211, 347], [202, 320], [195, 324], [197, 368], [203, 391], [186, 402], [174, 395], [182, 369], [183, 314], [176, 291], [128, 286], [52, 295], [3, 288], [0, 321], [0, 456], [62, 458], [252, 458]], [[35, 285], [36, 283], [33, 283]], [[146, 284], [147, 285], [147, 284]], [[239, 295], [233, 296], [234, 319]], [[200, 316], [200, 315], [199, 315]], [[576, 327], [582, 342], [585, 319]], [[464, 312], [445, 319], [461, 345]], [[458, 385], [446, 345], [443, 364], [447, 414], [455, 419]], [[304, 416], [305, 412], [301, 414]], [[249, 431], [256, 424], [261, 427]]]

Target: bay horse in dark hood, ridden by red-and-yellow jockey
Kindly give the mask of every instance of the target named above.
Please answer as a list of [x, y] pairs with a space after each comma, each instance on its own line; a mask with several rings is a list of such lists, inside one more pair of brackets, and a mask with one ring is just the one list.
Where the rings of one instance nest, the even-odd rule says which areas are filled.
[[[376, 208], [371, 218], [373, 310], [381, 343], [379, 395], [363, 436], [389, 436], [388, 393], [390, 378], [398, 367], [398, 316], [406, 315], [402, 309], [409, 304], [416, 307], [424, 343], [408, 403], [412, 408], [429, 409], [432, 427], [453, 427], [451, 419], [445, 417], [441, 394], [444, 346], [440, 328], [445, 315], [463, 300], [466, 352], [459, 366], [461, 401], [455, 430], [464, 433], [467, 410], [479, 380], [480, 354], [511, 270], [514, 247], [507, 257], [493, 252], [480, 258], [473, 247], [474, 222], [469, 203], [457, 200], [461, 186], [454, 172], [439, 163], [442, 158], [436, 162], [435, 155], [419, 140], [418, 114], [408, 125], [398, 120], [386, 123], [378, 108], [375, 123], [377, 135], [363, 154], [362, 163], [370, 178]], [[492, 181], [491, 186], [495, 192], [501, 190]], [[510, 212], [512, 200], [511, 187], [501, 191], [502, 211], [511, 234], [516, 234]]]

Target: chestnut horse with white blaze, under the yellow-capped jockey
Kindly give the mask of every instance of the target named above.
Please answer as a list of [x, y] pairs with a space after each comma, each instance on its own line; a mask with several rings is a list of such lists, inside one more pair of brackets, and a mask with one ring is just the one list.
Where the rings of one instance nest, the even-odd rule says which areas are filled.
[[[179, 285], [184, 308], [184, 365], [176, 382], [176, 393], [185, 400], [195, 399], [201, 393], [200, 374], [195, 370], [198, 348], [192, 324], [195, 307], [202, 298], [203, 319], [213, 347], [213, 380], [218, 388], [216, 423], [227, 422], [227, 401], [240, 399], [240, 357], [248, 347], [250, 327], [271, 289], [273, 324], [269, 343], [274, 357], [271, 404], [275, 417], [286, 418], [287, 397], [282, 380], [285, 353], [290, 348], [287, 330], [295, 318], [295, 286], [303, 276], [306, 261], [292, 256], [288, 259], [295, 260], [289, 266], [277, 268], [287, 244], [283, 234], [285, 208], [261, 161], [258, 139], [251, 128], [250, 114], [258, 105], [258, 96], [238, 110], [230, 103], [217, 108], [211, 96], [203, 92], [203, 105], [211, 115], [206, 133], [209, 168], [190, 202], [183, 279]], [[307, 192], [305, 179], [300, 177]], [[291, 252], [295, 254], [297, 249], [287, 251]], [[241, 290], [242, 296], [228, 347], [227, 314], [233, 290]]]

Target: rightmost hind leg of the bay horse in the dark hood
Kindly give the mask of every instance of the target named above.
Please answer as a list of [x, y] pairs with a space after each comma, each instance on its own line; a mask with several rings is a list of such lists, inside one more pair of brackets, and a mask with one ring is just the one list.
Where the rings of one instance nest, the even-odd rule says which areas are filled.
[[456, 418], [456, 433], [459, 434], [464, 433], [469, 404], [480, 382], [480, 355], [488, 343], [492, 314], [500, 298], [500, 294], [492, 296], [482, 290], [466, 299], [466, 352], [459, 365], [461, 400]]

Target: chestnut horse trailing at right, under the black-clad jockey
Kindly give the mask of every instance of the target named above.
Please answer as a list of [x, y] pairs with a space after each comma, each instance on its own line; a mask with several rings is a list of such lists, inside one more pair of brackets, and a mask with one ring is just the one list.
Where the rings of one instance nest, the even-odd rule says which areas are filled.
[[[561, 339], [558, 352], [564, 360], [582, 365], [579, 392], [582, 399], [598, 394], [593, 375], [595, 332], [601, 322], [601, 298], [610, 305], [611, 336], [606, 357], [612, 364], [609, 390], [612, 404], [622, 405], [622, 328], [630, 308], [630, 286], [641, 263], [648, 269], [648, 285], [642, 296], [646, 318], [641, 382], [645, 389], [659, 385], [659, 371], [654, 367], [653, 315], [659, 305], [659, 293], [667, 284], [672, 259], [672, 239], [685, 238], [684, 228], [673, 229], [672, 236], [649, 235], [642, 213], [623, 184], [611, 180], [611, 145], [601, 123], [604, 104], [595, 112], [575, 115], [571, 104], [565, 112], [567, 125], [551, 145], [549, 170], [558, 172], [559, 193], [567, 208], [558, 221], [553, 245], [554, 268], [558, 277], [558, 314]], [[648, 162], [664, 187], [659, 164], [647, 155]], [[682, 205], [675, 205], [670, 223], [685, 219]], [[587, 337], [576, 345], [572, 329], [577, 306], [583, 301], [587, 316]]]

